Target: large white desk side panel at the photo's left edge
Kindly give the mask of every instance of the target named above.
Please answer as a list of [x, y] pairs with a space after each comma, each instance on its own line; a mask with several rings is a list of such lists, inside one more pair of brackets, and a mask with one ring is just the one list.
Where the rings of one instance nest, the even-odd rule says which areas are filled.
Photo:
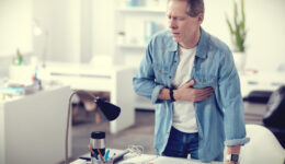
[[[53, 164], [64, 160], [69, 86], [0, 102], [0, 164]], [[69, 129], [71, 156], [71, 129]]]

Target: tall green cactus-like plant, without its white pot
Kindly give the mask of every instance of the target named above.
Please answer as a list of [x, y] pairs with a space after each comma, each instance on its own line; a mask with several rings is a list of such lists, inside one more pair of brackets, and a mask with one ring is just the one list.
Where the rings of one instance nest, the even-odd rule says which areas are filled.
[[238, 12], [238, 4], [235, 0], [233, 3], [233, 24], [230, 23], [228, 15], [226, 14], [226, 21], [230, 31], [231, 42], [233, 44], [233, 51], [246, 51], [246, 15], [244, 15], [244, 2], [240, 0], [240, 12]]

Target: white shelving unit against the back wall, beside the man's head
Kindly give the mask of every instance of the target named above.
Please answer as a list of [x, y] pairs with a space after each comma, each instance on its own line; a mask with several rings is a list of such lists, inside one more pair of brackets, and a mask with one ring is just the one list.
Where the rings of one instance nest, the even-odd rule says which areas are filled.
[[[138, 0], [136, 7], [129, 7], [126, 0], [114, 1], [115, 63], [132, 66], [135, 74], [151, 36], [167, 28], [167, 0], [158, 0], [157, 5], [152, 3], [155, 0]], [[149, 5], [149, 2], [152, 5]], [[136, 95], [135, 99], [136, 108], [155, 108], [147, 98]]]

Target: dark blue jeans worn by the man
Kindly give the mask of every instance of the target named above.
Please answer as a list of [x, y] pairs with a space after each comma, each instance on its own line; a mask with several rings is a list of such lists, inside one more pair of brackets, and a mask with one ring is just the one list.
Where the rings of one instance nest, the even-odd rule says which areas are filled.
[[198, 133], [185, 133], [171, 128], [163, 156], [187, 157], [198, 160]]

